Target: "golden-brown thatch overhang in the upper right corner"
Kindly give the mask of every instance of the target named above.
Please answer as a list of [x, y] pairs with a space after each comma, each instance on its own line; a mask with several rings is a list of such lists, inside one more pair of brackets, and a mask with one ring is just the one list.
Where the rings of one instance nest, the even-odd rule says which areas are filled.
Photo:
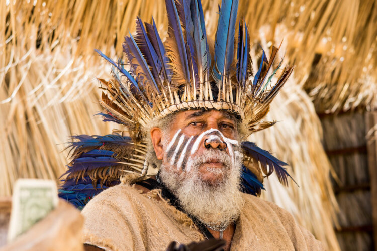
[[300, 69], [297, 81], [317, 112], [377, 107], [377, 1], [240, 3], [254, 42], [284, 39], [290, 63]]

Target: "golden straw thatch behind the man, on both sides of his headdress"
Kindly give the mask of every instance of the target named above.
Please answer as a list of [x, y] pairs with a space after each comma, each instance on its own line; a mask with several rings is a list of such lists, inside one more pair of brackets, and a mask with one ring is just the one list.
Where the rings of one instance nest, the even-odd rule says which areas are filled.
[[[219, 2], [203, 0], [211, 34]], [[282, 122], [253, 137], [291, 164], [301, 188], [280, 188], [271, 177], [265, 197], [338, 249], [321, 128], [298, 87], [319, 113], [376, 106], [376, 1], [244, 0], [239, 10], [253, 44], [268, 47], [284, 39], [286, 58], [297, 66], [293, 87], [287, 85], [273, 103], [279, 112], [270, 114]], [[6, 24], [0, 26], [1, 195], [11, 194], [16, 178], [56, 179], [63, 173], [62, 143], [69, 135], [111, 131], [113, 125], [93, 117], [100, 110], [94, 79], [109, 72], [93, 49], [120, 56], [136, 15], [147, 22], [153, 16], [166, 31], [163, 1], [0, 2], [0, 23]]]

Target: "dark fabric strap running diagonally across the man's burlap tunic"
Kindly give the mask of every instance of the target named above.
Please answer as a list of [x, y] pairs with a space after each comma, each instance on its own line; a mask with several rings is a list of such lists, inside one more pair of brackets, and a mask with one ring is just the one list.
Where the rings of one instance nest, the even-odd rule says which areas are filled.
[[175, 197], [174, 194], [172, 194], [169, 189], [164, 184], [159, 183], [157, 180], [153, 178], [149, 178], [140, 182], [135, 183], [137, 185], [143, 186], [149, 190], [152, 189], [161, 189], [161, 195], [165, 199], [168, 199], [170, 204], [174, 206], [177, 210], [185, 213], [187, 216], [190, 217], [190, 219], [194, 222], [194, 224], [199, 228], [199, 230], [206, 236], [207, 239], [213, 239], [214, 236], [212, 233], [208, 230], [208, 228], [200, 221], [197, 217], [190, 215], [186, 213], [181, 204], [179, 203], [179, 200]]

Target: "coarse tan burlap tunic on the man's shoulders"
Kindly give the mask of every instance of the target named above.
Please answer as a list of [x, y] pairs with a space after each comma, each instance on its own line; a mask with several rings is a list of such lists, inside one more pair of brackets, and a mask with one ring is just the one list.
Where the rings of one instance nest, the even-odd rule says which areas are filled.
[[[231, 250], [323, 250], [322, 243], [271, 202], [244, 194]], [[82, 210], [84, 243], [106, 250], [166, 250], [175, 240], [203, 240], [184, 213], [161, 200], [156, 190], [142, 194], [117, 185], [93, 198]]]

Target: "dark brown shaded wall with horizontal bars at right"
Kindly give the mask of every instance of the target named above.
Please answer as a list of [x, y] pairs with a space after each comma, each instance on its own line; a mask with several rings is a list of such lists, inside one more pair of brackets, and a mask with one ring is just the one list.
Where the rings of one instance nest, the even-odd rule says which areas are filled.
[[365, 112], [326, 115], [321, 122], [324, 147], [339, 178], [333, 183], [340, 208], [340, 228], [336, 233], [340, 247], [371, 250], [373, 226]]

